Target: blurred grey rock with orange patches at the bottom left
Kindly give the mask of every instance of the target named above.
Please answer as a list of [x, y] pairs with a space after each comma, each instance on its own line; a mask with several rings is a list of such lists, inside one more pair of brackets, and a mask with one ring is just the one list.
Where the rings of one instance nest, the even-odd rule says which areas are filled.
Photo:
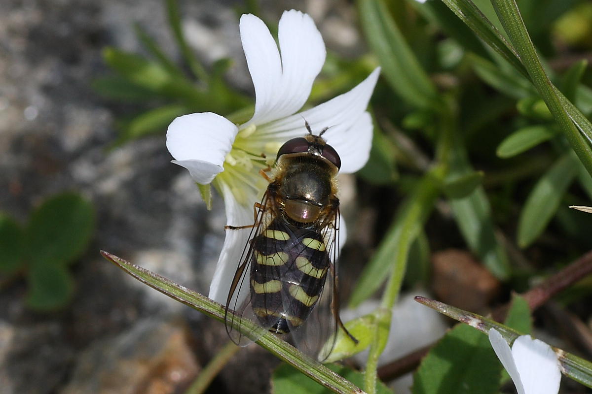
[[98, 340], [76, 360], [63, 394], [183, 392], [200, 370], [188, 331], [178, 321], [146, 318]]

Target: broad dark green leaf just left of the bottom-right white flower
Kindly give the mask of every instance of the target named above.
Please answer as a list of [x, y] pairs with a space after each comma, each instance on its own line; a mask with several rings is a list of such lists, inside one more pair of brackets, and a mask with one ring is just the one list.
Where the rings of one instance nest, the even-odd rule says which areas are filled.
[[497, 394], [501, 364], [487, 336], [457, 324], [424, 357], [413, 394]]

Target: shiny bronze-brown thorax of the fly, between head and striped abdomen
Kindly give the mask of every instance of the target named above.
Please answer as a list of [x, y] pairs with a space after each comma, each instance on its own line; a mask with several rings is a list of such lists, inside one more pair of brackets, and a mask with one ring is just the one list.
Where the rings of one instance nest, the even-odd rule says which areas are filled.
[[298, 223], [318, 220], [323, 208], [329, 204], [331, 175], [315, 164], [301, 162], [289, 166], [280, 183], [279, 194], [284, 199], [285, 214]]

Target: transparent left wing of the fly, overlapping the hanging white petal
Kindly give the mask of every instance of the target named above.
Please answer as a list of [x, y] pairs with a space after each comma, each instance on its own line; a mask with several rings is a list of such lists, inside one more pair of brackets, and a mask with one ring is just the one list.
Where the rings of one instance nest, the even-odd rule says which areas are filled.
[[275, 198], [266, 191], [255, 216], [255, 223], [244, 245], [239, 266], [234, 273], [226, 301], [224, 323], [230, 339], [239, 346], [246, 346], [258, 340], [267, 331], [258, 321], [251, 306], [250, 271], [253, 256], [256, 253], [253, 240], [262, 233], [276, 216]]

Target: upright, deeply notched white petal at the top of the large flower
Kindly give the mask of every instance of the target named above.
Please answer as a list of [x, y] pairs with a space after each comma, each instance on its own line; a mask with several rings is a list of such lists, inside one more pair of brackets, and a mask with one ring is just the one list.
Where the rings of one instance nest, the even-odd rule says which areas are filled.
[[240, 18], [240, 38], [255, 86], [255, 113], [246, 125], [261, 125], [302, 108], [326, 57], [313, 19], [294, 9], [284, 12], [278, 27], [281, 57], [268, 28], [254, 15]]

